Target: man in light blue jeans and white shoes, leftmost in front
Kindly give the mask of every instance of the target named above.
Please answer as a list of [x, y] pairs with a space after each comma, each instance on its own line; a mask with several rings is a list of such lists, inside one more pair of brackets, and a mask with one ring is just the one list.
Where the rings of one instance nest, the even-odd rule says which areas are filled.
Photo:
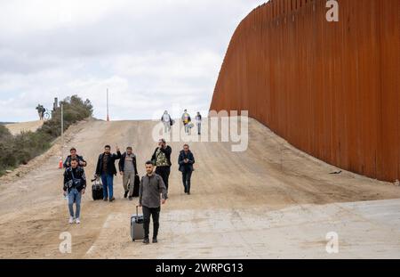
[[[71, 159], [71, 167], [68, 167], [64, 172], [64, 196], [68, 196], [69, 208], [69, 224], [80, 224], [81, 216], [81, 200], [86, 189], [86, 175], [84, 168], [78, 167], [78, 159]], [[76, 213], [74, 214], [74, 204], [76, 205]]]

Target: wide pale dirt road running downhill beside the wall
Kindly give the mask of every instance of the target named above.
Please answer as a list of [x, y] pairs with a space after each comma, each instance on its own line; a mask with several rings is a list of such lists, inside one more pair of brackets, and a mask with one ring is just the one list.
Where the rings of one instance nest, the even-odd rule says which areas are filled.
[[[68, 130], [93, 175], [102, 147], [132, 145], [143, 164], [156, 148], [151, 121], [90, 120]], [[245, 152], [229, 143], [191, 143], [196, 156], [191, 196], [183, 193], [176, 164], [163, 207], [160, 243], [132, 242], [130, 216], [137, 200], [83, 200], [81, 225], [68, 224], [62, 172], [54, 148], [28, 169], [0, 179], [0, 257], [212, 258], [400, 257], [400, 189], [343, 172], [293, 149], [255, 120]], [[182, 143], [171, 143], [172, 161]], [[33, 169], [32, 169], [33, 168]], [[59, 251], [60, 233], [72, 234], [72, 253]], [[340, 253], [325, 251], [326, 233], [338, 232]]]

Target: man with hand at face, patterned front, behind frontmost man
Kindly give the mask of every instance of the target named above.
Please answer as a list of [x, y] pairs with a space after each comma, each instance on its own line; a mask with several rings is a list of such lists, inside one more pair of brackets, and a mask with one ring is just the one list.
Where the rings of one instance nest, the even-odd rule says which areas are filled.
[[160, 175], [163, 178], [165, 187], [168, 191], [168, 179], [171, 174], [171, 154], [172, 148], [169, 145], [166, 145], [165, 140], [161, 139], [158, 142], [158, 147], [156, 151], [154, 151], [151, 160], [153, 164], [156, 166], [156, 174]]

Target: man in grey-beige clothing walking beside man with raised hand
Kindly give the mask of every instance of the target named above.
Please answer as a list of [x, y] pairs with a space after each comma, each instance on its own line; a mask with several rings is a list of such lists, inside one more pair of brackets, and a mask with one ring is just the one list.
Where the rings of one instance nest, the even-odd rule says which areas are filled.
[[[128, 197], [132, 200], [135, 176], [138, 175], [138, 167], [136, 166], [136, 156], [133, 154], [132, 147], [126, 148], [126, 152], [119, 159], [119, 173], [123, 175], [124, 198]], [[128, 186], [129, 185], [129, 186]]]

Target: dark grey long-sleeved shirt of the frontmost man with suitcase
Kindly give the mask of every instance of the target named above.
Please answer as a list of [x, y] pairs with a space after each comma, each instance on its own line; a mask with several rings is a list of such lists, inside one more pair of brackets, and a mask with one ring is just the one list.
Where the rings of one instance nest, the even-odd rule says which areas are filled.
[[153, 173], [141, 178], [139, 189], [139, 204], [147, 208], [159, 208], [161, 205], [161, 196], [164, 200], [168, 199], [163, 178]]

